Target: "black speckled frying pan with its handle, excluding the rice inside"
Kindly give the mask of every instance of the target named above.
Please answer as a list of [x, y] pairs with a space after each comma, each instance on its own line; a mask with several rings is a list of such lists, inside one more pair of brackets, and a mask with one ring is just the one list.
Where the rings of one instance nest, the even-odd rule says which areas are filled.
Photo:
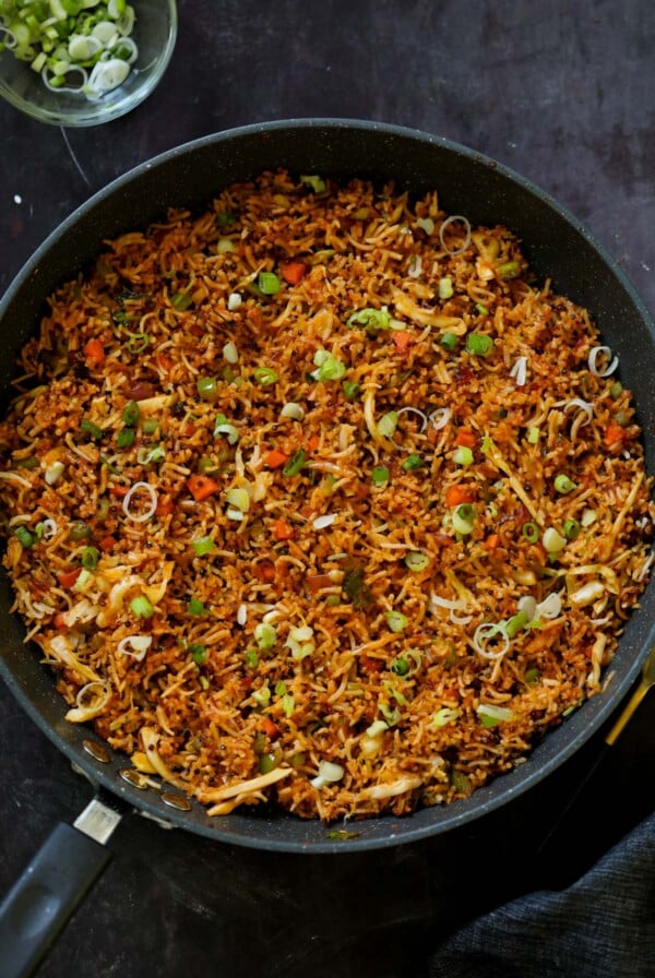
[[[653, 472], [655, 329], [616, 263], [564, 208], [495, 160], [434, 135], [374, 122], [303, 119], [230, 130], [167, 152], [94, 195], [45, 241], [0, 305], [0, 410], [10, 397], [19, 350], [35, 332], [47, 296], [91, 263], [107, 238], [143, 227], [170, 206], [201, 207], [226, 184], [279, 166], [295, 174], [342, 180], [353, 176], [378, 182], [393, 178], [398, 189], [415, 194], [437, 189], [448, 213], [465, 214], [474, 225], [501, 223], [515, 231], [537, 276], [551, 278], [559, 293], [588, 308], [604, 343], [619, 356], [620, 377], [634, 392], [648, 470]], [[356, 835], [344, 843], [331, 838], [324, 824], [263, 808], [210, 819], [203, 807], [166, 786], [141, 790], [126, 780], [129, 764], [124, 756], [88, 729], [64, 720], [67, 706], [52, 677], [39, 664], [36, 648], [24, 644], [24, 628], [10, 615], [11, 603], [3, 575], [0, 675], [46, 736], [96, 790], [112, 799], [108, 807], [96, 806], [91, 812], [100, 823], [96, 836], [110, 832], [118, 818], [112, 819], [111, 808], [122, 807], [217, 842], [294, 852], [343, 852], [345, 847], [360, 851], [413, 843], [508, 803], [552, 773], [609, 718], [655, 641], [655, 587], [650, 585], [620, 639], [605, 694], [593, 697], [550, 731], [524, 764], [449, 807], [425, 809], [404, 819], [385, 815], [360, 822]], [[0, 947], [10, 949], [0, 951], [0, 964], [5, 962], [0, 971], [5, 978], [29, 973], [44, 945], [107, 861], [104, 847], [87, 836], [87, 826], [82, 824], [82, 828], [81, 833], [57, 826], [55, 837], [36, 857], [37, 868], [31, 866], [7, 897], [0, 920]], [[64, 873], [62, 866], [67, 867]]]

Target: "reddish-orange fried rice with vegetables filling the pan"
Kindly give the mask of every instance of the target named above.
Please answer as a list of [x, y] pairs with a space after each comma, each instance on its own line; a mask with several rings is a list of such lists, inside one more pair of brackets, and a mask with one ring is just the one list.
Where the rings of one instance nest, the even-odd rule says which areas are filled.
[[617, 367], [437, 193], [264, 174], [107, 242], [0, 425], [67, 718], [210, 814], [403, 814], [509, 771], [602, 690], [648, 576]]

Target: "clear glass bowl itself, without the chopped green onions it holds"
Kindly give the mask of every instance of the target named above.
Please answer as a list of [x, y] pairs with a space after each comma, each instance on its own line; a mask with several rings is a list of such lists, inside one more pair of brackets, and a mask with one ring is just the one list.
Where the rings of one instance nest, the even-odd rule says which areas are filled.
[[0, 52], [0, 95], [39, 122], [53, 126], [98, 126], [131, 111], [158, 84], [177, 37], [175, 0], [131, 0], [135, 20], [131, 37], [138, 57], [126, 81], [96, 99], [81, 92], [53, 91], [28, 61], [13, 51]]

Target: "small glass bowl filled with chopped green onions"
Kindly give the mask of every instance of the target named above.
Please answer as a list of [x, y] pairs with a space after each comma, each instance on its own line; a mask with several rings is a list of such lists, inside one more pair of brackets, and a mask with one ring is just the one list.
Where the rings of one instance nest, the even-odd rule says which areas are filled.
[[0, 0], [0, 95], [40, 122], [97, 126], [158, 84], [175, 0]]

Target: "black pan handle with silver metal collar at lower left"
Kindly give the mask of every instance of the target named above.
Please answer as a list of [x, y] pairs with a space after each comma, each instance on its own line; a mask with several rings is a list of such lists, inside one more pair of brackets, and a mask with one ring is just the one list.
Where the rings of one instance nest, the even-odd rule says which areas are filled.
[[[108, 813], [104, 831], [98, 831], [98, 807]], [[93, 825], [85, 819], [92, 809]], [[2, 978], [34, 974], [109, 863], [111, 852], [103, 843], [118, 821], [119, 814], [94, 799], [76, 820], [79, 827], [55, 826], [0, 905]]]

